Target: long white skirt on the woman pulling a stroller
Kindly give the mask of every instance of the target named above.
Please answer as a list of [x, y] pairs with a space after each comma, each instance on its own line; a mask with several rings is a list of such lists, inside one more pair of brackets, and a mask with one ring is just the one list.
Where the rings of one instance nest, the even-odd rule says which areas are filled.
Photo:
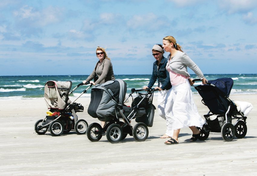
[[172, 86], [171, 116], [174, 119], [174, 129], [197, 126], [202, 127], [205, 120], [199, 115], [194, 103], [189, 81]]

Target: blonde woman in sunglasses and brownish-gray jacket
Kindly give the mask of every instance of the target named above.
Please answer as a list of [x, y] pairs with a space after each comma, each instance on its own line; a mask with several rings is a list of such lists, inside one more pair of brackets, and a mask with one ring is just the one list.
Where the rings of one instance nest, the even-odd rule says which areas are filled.
[[[106, 81], [115, 80], [113, 70], [112, 70], [112, 63], [111, 59], [107, 56], [106, 51], [102, 47], [96, 48], [96, 56], [98, 57], [99, 61], [96, 63], [96, 67], [94, 68], [93, 72], [83, 81], [85, 84], [86, 82], [90, 81], [93, 85], [102, 84]], [[93, 80], [95, 77], [98, 79]]]

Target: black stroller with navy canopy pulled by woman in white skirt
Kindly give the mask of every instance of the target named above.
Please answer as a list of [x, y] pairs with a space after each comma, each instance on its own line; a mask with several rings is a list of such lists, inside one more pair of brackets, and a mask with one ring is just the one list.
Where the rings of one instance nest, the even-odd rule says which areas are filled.
[[[200, 79], [195, 79], [200, 81]], [[234, 137], [241, 139], [246, 136], [246, 118], [243, 112], [237, 110], [235, 103], [229, 99], [233, 86], [231, 78], [220, 78], [207, 81], [205, 85], [194, 86], [200, 96], [202, 103], [210, 110], [204, 115], [206, 123], [200, 128], [201, 134], [198, 139], [205, 140], [210, 132], [221, 132], [225, 141], [232, 141]], [[212, 113], [212, 114], [211, 114]], [[216, 115], [216, 117], [212, 117]], [[236, 122], [232, 124], [232, 120]]]

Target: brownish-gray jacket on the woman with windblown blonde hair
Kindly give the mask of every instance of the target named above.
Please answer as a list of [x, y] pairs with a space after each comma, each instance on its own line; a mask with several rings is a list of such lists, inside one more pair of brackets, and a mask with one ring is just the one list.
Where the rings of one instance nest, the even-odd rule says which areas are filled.
[[98, 63], [99, 62], [97, 62], [97, 66], [94, 68], [93, 72], [88, 78], [86, 78], [86, 81], [93, 80], [95, 75], [98, 76], [98, 80], [95, 82], [96, 84], [102, 84], [106, 81], [115, 80], [111, 60], [104, 59], [99, 66]]

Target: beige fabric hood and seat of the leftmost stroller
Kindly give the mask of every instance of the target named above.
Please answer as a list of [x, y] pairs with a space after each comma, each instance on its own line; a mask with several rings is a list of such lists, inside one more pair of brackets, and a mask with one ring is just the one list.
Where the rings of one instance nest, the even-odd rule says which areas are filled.
[[64, 109], [67, 102], [70, 102], [68, 93], [70, 92], [71, 86], [71, 81], [47, 81], [44, 90], [44, 99], [47, 104], [47, 108]]

